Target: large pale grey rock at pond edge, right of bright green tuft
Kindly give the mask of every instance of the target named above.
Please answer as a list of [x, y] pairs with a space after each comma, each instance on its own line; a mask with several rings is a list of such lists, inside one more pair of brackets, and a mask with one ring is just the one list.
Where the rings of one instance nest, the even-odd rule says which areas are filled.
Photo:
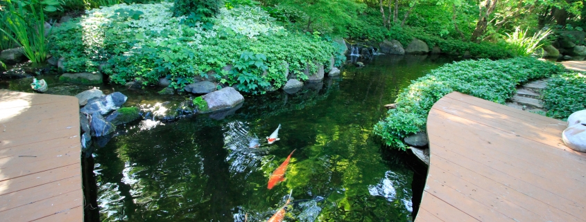
[[231, 109], [244, 102], [244, 97], [232, 87], [202, 95], [202, 98], [207, 102], [206, 112]]

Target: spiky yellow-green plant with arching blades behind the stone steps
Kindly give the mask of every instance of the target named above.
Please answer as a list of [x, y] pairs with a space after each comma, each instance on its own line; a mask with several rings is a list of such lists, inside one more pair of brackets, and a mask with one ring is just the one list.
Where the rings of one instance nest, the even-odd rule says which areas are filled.
[[551, 34], [551, 29], [547, 30], [540, 30], [539, 32], [533, 34], [533, 36], [528, 37], [527, 29], [522, 30], [517, 26], [515, 28], [515, 32], [509, 34], [506, 33], [507, 38], [505, 41], [510, 46], [510, 50], [512, 53], [518, 56], [529, 56], [535, 52], [537, 48], [543, 46], [542, 40], [545, 39], [549, 34]]

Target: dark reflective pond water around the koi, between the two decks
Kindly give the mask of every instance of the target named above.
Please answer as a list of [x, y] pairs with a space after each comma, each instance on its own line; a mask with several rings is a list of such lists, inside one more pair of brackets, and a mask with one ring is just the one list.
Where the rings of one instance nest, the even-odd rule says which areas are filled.
[[[86, 221], [266, 221], [290, 192], [286, 221], [412, 221], [412, 189], [420, 186], [413, 181], [424, 178], [418, 172], [424, 167], [382, 146], [372, 126], [399, 89], [451, 61], [379, 55], [293, 95], [245, 97], [231, 115], [119, 126], [105, 146], [94, 142], [83, 160]], [[40, 78], [54, 94], [90, 87]], [[29, 82], [3, 81], [0, 89], [31, 91]], [[128, 95], [125, 106], [187, 97], [100, 87]], [[279, 124], [280, 140], [268, 145], [266, 137]], [[249, 148], [255, 138], [260, 146]], [[293, 150], [286, 180], [268, 189], [270, 174]]]

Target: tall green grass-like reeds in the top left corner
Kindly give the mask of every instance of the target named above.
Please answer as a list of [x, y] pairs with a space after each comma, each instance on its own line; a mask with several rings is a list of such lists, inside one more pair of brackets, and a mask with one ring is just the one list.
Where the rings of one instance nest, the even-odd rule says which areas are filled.
[[[44, 2], [53, 3], [51, 0]], [[31, 62], [38, 63], [46, 59], [48, 48], [44, 35], [45, 16], [40, 2], [13, 3], [6, 0], [6, 13], [1, 14], [0, 21], [3, 22], [3, 27], [0, 28], [3, 35], [22, 47], [24, 55]]]

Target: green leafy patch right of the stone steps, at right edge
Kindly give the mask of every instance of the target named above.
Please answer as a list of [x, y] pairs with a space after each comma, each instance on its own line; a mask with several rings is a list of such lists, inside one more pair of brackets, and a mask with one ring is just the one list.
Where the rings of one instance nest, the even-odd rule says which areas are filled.
[[542, 96], [547, 116], [568, 118], [571, 113], [586, 109], [586, 75], [578, 72], [555, 75]]

